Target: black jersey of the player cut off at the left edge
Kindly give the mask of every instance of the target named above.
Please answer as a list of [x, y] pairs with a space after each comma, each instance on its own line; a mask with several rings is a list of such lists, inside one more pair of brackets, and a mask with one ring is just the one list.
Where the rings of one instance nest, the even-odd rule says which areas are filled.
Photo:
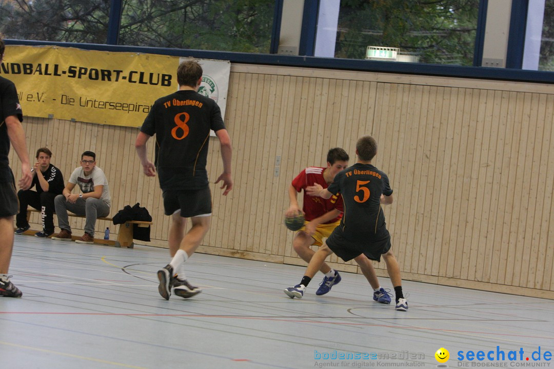
[[12, 171], [9, 169], [9, 137], [4, 120], [16, 116], [23, 122], [23, 113], [17, 97], [16, 85], [12, 81], [0, 77], [0, 182], [11, 182]]

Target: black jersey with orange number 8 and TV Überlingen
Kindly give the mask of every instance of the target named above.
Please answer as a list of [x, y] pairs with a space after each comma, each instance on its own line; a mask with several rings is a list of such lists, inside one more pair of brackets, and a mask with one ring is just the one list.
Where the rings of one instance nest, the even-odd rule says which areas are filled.
[[161, 189], [207, 188], [209, 132], [224, 128], [217, 103], [196, 91], [177, 91], [156, 100], [141, 132], [156, 135], [156, 168]]

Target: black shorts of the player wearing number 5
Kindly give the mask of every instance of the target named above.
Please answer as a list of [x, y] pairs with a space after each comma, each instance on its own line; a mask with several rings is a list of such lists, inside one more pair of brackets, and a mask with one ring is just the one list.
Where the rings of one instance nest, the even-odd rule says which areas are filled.
[[365, 254], [369, 259], [380, 262], [381, 254], [387, 253], [391, 249], [391, 235], [387, 230], [384, 230], [383, 235], [376, 240], [353, 242], [343, 236], [342, 230], [338, 226], [327, 238], [326, 243], [331, 251], [344, 261]]

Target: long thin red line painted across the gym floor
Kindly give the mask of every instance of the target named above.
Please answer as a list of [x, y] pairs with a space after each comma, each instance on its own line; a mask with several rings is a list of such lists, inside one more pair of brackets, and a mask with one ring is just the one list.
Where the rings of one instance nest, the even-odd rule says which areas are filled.
[[[268, 321], [287, 321], [290, 323], [314, 323], [314, 324], [336, 324], [336, 325], [356, 325], [356, 326], [371, 326], [371, 327], [383, 327], [383, 328], [402, 328], [402, 329], [419, 329], [419, 330], [432, 330], [440, 332], [458, 332], [458, 333], [471, 333], [471, 334], [484, 334], [491, 335], [490, 332], [477, 332], [477, 331], [461, 331], [455, 329], [435, 329], [426, 327], [415, 327], [409, 325], [387, 325], [387, 324], [369, 324], [369, 323], [346, 323], [342, 321], [321, 321], [310, 319], [279, 319], [275, 318], [259, 318], [257, 316], [236, 316], [236, 315], [198, 315], [198, 314], [130, 314], [130, 313], [61, 313], [61, 312], [39, 312], [39, 311], [0, 311], [0, 314], [34, 314], [34, 315], [106, 315], [106, 316], [175, 316], [181, 318], [230, 318], [230, 319], [253, 319], [253, 320], [268, 320]], [[325, 317], [327, 318], [327, 317]], [[547, 340], [554, 340], [554, 337], [543, 336], [527, 336], [516, 335], [507, 333], [493, 333], [496, 336], [510, 336], [510, 337], [527, 337], [527, 338], [541, 338]]]

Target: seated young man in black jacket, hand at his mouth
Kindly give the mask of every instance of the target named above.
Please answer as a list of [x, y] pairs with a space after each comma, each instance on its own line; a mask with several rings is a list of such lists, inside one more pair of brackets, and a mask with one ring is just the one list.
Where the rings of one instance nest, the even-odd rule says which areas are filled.
[[[61, 171], [50, 164], [52, 152], [45, 147], [37, 150], [37, 163], [31, 168], [33, 182], [27, 189], [17, 193], [19, 199], [19, 214], [16, 216], [16, 234], [29, 229], [27, 221], [27, 206], [40, 211], [42, 231], [35, 233], [37, 237], [48, 237], [54, 233], [54, 198], [64, 189], [64, 176]], [[35, 186], [36, 191], [31, 190]]]

